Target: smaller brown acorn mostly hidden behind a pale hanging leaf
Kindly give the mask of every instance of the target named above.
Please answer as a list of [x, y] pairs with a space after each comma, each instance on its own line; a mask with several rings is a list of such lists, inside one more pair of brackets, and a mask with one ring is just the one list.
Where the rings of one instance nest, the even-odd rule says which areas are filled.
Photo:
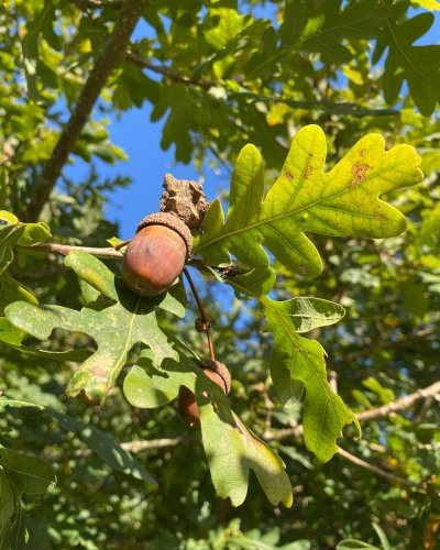
[[[202, 372], [208, 378], [215, 382], [226, 395], [231, 389], [231, 375], [228, 367], [220, 361], [206, 360]], [[186, 386], [180, 386], [178, 410], [184, 421], [190, 428], [200, 426], [200, 411], [197, 405], [196, 396]]]

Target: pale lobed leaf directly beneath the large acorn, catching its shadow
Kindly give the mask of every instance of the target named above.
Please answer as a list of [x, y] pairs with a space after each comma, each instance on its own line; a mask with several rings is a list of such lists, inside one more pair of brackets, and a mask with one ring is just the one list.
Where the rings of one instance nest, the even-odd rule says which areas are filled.
[[40, 340], [48, 339], [54, 329], [63, 328], [85, 332], [96, 341], [96, 352], [72, 377], [68, 396], [82, 394], [86, 399], [100, 403], [114, 385], [127, 354], [138, 342], [151, 348], [156, 365], [165, 358], [176, 356], [157, 324], [155, 314], [155, 307], [182, 314], [174, 298], [165, 294], [154, 298], [133, 295], [102, 262], [85, 252], [70, 253], [66, 265], [99, 290], [103, 300], [97, 300], [80, 311], [19, 301], [6, 308], [6, 316], [14, 327]]

